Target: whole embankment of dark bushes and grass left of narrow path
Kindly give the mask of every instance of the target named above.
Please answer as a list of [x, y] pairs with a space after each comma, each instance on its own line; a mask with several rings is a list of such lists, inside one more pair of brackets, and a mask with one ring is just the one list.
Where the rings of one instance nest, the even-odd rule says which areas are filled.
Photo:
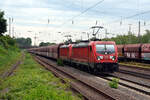
[[15, 41], [9, 36], [0, 36], [0, 75], [7, 71], [21, 57]]

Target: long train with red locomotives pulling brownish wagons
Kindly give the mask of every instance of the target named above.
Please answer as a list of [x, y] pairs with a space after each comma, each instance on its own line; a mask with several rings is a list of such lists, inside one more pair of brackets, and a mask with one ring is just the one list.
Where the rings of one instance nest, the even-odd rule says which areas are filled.
[[84, 41], [57, 44], [28, 50], [52, 59], [62, 59], [70, 65], [88, 69], [91, 73], [118, 71], [117, 46], [113, 41]]

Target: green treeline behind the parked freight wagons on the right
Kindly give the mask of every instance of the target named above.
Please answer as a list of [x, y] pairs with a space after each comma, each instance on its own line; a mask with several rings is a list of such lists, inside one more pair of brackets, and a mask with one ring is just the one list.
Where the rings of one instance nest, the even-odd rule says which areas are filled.
[[135, 36], [133, 33], [128, 35], [117, 35], [112, 38], [104, 38], [103, 41], [115, 41], [116, 44], [136, 44], [136, 43], [150, 43], [150, 30], [146, 30], [146, 34], [140, 37]]

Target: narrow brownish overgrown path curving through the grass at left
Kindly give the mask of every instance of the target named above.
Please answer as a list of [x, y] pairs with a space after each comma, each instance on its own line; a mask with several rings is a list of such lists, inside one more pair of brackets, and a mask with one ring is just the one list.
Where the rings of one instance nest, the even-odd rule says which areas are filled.
[[22, 52], [22, 55], [20, 57], [20, 59], [14, 64], [11, 66], [10, 69], [8, 69], [6, 72], [4, 72], [1, 76], [2, 79], [6, 78], [6, 77], [9, 77], [10, 75], [13, 74], [13, 72], [15, 71], [15, 69], [23, 63], [23, 60], [24, 60], [24, 57], [25, 57], [25, 53]]

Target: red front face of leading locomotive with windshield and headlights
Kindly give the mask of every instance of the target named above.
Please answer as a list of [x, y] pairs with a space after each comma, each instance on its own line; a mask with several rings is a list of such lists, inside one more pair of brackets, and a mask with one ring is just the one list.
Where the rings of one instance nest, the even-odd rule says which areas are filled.
[[98, 41], [94, 44], [95, 67], [100, 72], [118, 71], [117, 46], [112, 41]]

